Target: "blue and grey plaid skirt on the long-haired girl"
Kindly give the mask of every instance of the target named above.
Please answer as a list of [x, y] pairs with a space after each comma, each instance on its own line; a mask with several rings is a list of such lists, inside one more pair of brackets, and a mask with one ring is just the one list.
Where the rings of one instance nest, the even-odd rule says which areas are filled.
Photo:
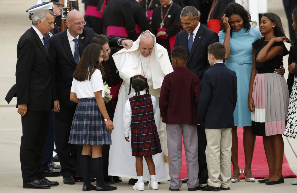
[[110, 145], [111, 133], [95, 98], [82, 98], [76, 106], [68, 143], [76, 145]]

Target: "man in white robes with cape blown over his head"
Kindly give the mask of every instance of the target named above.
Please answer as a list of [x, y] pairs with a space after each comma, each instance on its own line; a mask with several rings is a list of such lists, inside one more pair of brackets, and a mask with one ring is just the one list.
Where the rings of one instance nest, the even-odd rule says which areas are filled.
[[[122, 49], [113, 54], [119, 75], [123, 83], [119, 90], [118, 104], [114, 115], [112, 132], [113, 145], [110, 146], [108, 175], [137, 179], [135, 158], [131, 153], [131, 144], [125, 140], [123, 129], [123, 112], [125, 102], [133, 96], [128, 95], [130, 78], [142, 74], [147, 78], [149, 93], [156, 98], [155, 122], [161, 142], [162, 153], [153, 155], [157, 181], [170, 180], [168, 169], [168, 151], [166, 125], [162, 122], [159, 109], [159, 97], [164, 76], [173, 72], [167, 50], [157, 44], [155, 36], [149, 30], [143, 32], [133, 42], [130, 49]], [[143, 159], [145, 162], [145, 160]], [[143, 180], [150, 181], [146, 163], [143, 164]]]

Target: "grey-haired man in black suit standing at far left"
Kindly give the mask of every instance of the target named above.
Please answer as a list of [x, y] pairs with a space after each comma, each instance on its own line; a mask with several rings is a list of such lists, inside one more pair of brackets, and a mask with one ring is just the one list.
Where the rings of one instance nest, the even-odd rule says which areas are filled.
[[23, 188], [46, 189], [59, 185], [42, 174], [42, 149], [52, 106], [52, 60], [45, 35], [54, 28], [54, 16], [48, 9], [32, 15], [32, 28], [17, 44], [16, 93], [18, 113], [22, 116], [20, 161]]

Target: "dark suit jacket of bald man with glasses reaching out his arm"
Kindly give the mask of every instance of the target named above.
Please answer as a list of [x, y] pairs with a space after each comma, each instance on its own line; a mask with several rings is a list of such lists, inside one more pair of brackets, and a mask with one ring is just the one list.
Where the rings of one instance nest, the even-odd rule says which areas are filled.
[[[92, 28], [84, 28], [78, 38], [79, 56], [91, 39], [97, 36]], [[118, 47], [119, 37], [107, 37], [111, 47]], [[73, 73], [76, 69], [71, 48], [69, 45], [67, 30], [55, 34], [49, 38], [49, 51], [52, 56], [52, 86], [53, 100], [59, 100], [61, 106], [72, 107], [76, 103], [70, 101], [70, 89]]]

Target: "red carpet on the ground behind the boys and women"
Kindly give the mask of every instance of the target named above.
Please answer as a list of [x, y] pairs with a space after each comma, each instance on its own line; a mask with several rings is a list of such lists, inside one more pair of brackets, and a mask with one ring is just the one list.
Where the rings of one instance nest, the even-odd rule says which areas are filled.
[[[239, 168], [241, 168], [241, 171], [243, 171], [244, 168], [244, 151], [243, 151], [243, 144], [242, 144], [242, 135], [243, 135], [243, 128], [238, 127], [237, 129], [238, 134], [238, 164]], [[183, 146], [183, 154], [182, 154], [182, 169], [179, 174], [179, 177], [181, 179], [187, 177], [187, 165], [186, 165], [186, 156], [184, 153], [184, 146]], [[264, 146], [261, 136], [256, 136], [256, 144], [255, 144], [255, 150], [253, 155], [253, 162], [252, 162], [252, 172], [253, 176], [256, 179], [263, 179], [265, 178], [268, 173], [268, 165], [266, 161], [266, 156], [264, 152]], [[283, 155], [283, 177], [284, 178], [295, 178], [296, 175], [293, 173], [291, 168], [289, 167], [288, 160], [286, 159], [286, 156]], [[232, 175], [232, 165], [231, 165], [231, 175]], [[244, 179], [244, 175], [241, 174], [240, 179]]]

